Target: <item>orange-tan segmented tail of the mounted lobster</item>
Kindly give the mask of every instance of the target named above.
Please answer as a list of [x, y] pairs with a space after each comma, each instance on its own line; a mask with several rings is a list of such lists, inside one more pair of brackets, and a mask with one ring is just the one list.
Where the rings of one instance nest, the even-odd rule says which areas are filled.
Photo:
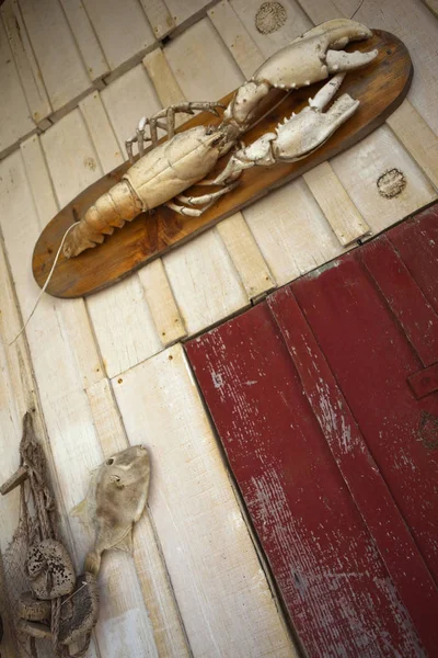
[[131, 222], [142, 211], [142, 204], [127, 180], [123, 180], [89, 207], [84, 216], [66, 237], [64, 256], [72, 258], [95, 247], [115, 228]]

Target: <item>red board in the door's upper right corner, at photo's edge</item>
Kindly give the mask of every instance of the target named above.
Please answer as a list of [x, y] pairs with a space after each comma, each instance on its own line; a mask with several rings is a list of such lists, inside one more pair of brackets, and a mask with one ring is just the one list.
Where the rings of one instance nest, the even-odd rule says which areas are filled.
[[392, 228], [388, 238], [438, 313], [438, 204]]

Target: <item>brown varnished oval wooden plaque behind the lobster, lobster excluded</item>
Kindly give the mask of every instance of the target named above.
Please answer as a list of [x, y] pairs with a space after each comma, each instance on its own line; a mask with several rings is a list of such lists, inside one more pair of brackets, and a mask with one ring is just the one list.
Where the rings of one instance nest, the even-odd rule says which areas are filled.
[[[165, 252], [172, 246], [181, 243], [220, 218], [253, 202], [273, 186], [300, 175], [372, 131], [387, 114], [400, 104], [407, 90], [412, 72], [408, 55], [401, 42], [387, 33], [377, 33], [373, 43], [377, 45], [380, 43], [380, 56], [367, 68], [366, 72], [356, 73], [353, 79], [347, 77], [343, 88], [343, 91], [349, 91], [353, 97], [360, 98], [360, 109], [351, 121], [347, 122], [321, 149], [299, 162], [270, 169], [255, 167], [245, 171], [241, 184], [232, 193], [223, 196], [201, 217], [182, 218], [164, 207], [157, 209], [153, 215], [140, 215], [135, 222], [126, 225], [123, 230], [115, 231], [111, 239], [99, 248], [85, 251], [79, 258], [68, 261], [61, 258], [47, 291], [58, 296], [78, 296], [97, 291], [145, 264], [154, 256]], [[365, 49], [370, 46], [372, 43], [362, 45]], [[390, 50], [391, 55], [388, 55]], [[384, 59], [384, 66], [380, 66], [382, 59]], [[382, 93], [383, 87], [384, 94]], [[185, 92], [185, 89], [183, 91]], [[269, 117], [263, 120], [247, 133], [247, 139], [252, 140], [272, 129], [280, 116], [290, 114], [291, 107], [288, 103], [293, 103], [295, 110], [302, 107], [307, 103], [309, 92], [311, 89], [299, 90], [293, 97], [288, 97], [279, 109], [276, 109]], [[298, 107], [296, 103], [298, 103]], [[206, 118], [198, 115], [185, 125], [196, 125]], [[208, 121], [212, 123], [210, 117]], [[99, 194], [119, 180], [123, 172], [124, 167], [118, 168], [112, 175], [101, 179], [77, 197], [72, 204], [77, 215], [81, 216]], [[196, 193], [196, 186], [194, 190]], [[54, 249], [59, 245], [65, 230], [71, 225], [72, 206], [65, 208], [38, 240], [33, 262], [34, 274], [38, 282], [45, 281], [45, 272], [53, 262], [53, 254], [48, 253], [48, 249]]]

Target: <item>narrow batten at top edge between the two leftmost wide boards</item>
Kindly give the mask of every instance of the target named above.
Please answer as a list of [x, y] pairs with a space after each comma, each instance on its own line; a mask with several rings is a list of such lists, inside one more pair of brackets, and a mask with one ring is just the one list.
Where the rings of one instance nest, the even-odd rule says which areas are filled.
[[82, 0], [60, 0], [77, 41], [88, 75], [92, 82], [99, 82], [110, 72], [101, 44], [94, 33]]

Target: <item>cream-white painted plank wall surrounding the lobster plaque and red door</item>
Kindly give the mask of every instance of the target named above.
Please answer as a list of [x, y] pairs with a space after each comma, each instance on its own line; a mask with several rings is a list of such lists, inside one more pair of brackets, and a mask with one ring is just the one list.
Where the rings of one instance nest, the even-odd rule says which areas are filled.
[[[90, 469], [129, 443], [152, 456], [134, 558], [104, 559], [90, 656], [296, 655], [181, 341], [437, 197], [436, 16], [419, 0], [281, 3], [286, 23], [265, 35], [261, 0], [7, 0], [0, 10], [0, 481], [35, 406], [79, 569], [88, 538], [69, 510]], [[182, 98], [217, 100], [312, 24], [353, 14], [396, 34], [414, 60], [408, 100], [384, 126], [123, 283], [87, 299], [44, 297], [8, 345], [38, 294], [38, 234], [124, 160], [140, 116]], [[392, 169], [406, 184], [387, 198], [377, 181]], [[16, 514], [15, 492], [0, 500], [1, 552]], [[15, 658], [4, 589], [0, 599], [1, 653]]]

